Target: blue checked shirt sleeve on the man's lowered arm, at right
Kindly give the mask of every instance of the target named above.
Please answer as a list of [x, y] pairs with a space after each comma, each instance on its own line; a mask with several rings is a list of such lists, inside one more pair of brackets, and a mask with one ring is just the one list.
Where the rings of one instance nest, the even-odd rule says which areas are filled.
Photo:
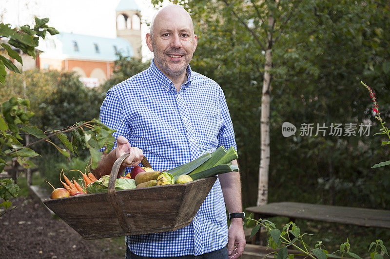
[[221, 119], [222, 119], [222, 127], [219, 130], [217, 139], [218, 139], [218, 147], [224, 146], [226, 149], [230, 147], [234, 147], [237, 150], [237, 144], [234, 139], [234, 129], [232, 119], [230, 117], [228, 105], [226, 103], [225, 95], [223, 94], [222, 89], [219, 92], [219, 104], [221, 109]]

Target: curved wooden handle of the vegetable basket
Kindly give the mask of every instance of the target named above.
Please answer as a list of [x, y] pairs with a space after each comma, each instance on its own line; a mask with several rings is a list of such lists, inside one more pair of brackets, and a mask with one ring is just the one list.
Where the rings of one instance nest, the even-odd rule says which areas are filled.
[[[123, 160], [125, 160], [130, 154], [124, 154], [121, 155], [117, 161], [115, 161], [113, 168], [110, 173], [110, 179], [108, 180], [108, 197], [110, 199], [111, 206], [114, 207], [115, 210], [115, 215], [117, 216], [117, 219], [119, 221], [120, 227], [124, 232], [129, 232], [129, 226], [126, 223], [125, 217], [123, 215], [122, 208], [120, 207], [118, 198], [117, 198], [117, 193], [115, 191], [115, 183], [117, 180], [117, 176], [119, 173], [119, 168], [120, 165], [122, 164]], [[148, 159], [144, 156], [141, 161], [142, 165], [144, 167], [151, 167]]]

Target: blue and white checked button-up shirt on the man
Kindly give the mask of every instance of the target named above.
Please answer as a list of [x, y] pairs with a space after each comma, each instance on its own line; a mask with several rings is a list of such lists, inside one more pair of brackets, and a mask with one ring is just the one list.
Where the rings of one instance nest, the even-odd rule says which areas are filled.
[[[179, 92], [154, 64], [107, 92], [100, 120], [140, 148], [156, 171], [190, 162], [223, 145], [236, 148], [225, 96], [215, 81], [187, 68]], [[130, 170], [127, 168], [126, 170]], [[163, 216], [163, 215], [162, 215]], [[191, 224], [172, 232], [126, 237], [136, 255], [200, 255], [228, 242], [225, 203], [219, 180]]]

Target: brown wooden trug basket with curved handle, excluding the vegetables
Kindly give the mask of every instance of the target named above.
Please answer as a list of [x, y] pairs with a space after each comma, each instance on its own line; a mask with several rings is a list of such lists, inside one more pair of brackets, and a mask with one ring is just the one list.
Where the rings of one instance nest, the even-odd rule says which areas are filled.
[[[216, 176], [184, 184], [116, 191], [119, 166], [128, 155], [115, 162], [108, 192], [47, 199], [43, 203], [84, 239], [173, 231], [190, 224]], [[149, 167], [145, 165], [148, 162], [142, 164]]]

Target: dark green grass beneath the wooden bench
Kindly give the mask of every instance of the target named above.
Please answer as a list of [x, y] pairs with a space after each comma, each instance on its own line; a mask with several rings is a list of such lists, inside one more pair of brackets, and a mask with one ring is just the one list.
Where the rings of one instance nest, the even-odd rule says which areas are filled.
[[[270, 217], [267, 218], [267, 220], [276, 224], [276, 227], [280, 230], [289, 222], [287, 217]], [[351, 244], [350, 252], [353, 252], [362, 258], [370, 257], [370, 253], [368, 252], [370, 243], [375, 242], [377, 239], [381, 239], [388, 250], [390, 248], [390, 229], [301, 219], [296, 220], [294, 223], [300, 228], [301, 234], [314, 234], [313, 236], [305, 235], [304, 242], [306, 244], [314, 248], [314, 245], [318, 241], [322, 241], [325, 249], [330, 253], [339, 250], [340, 244], [347, 242], [347, 239]], [[248, 227], [253, 227], [253, 225]], [[260, 241], [257, 242], [258, 244], [266, 245], [266, 237], [262, 235]], [[371, 252], [372, 251], [373, 250], [371, 250]], [[340, 254], [336, 253], [336, 255]]]

